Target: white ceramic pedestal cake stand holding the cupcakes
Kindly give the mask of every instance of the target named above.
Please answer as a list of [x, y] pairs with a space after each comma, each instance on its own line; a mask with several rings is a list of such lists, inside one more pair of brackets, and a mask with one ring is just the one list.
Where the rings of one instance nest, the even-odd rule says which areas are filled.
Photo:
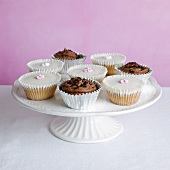
[[48, 100], [29, 100], [18, 80], [14, 83], [12, 94], [19, 103], [29, 109], [56, 115], [50, 125], [50, 130], [56, 137], [74, 143], [97, 143], [111, 140], [122, 133], [122, 123], [111, 116], [134, 112], [152, 105], [160, 98], [162, 90], [151, 77], [136, 104], [118, 106], [109, 101], [105, 89], [102, 88], [95, 105], [90, 110], [68, 108], [58, 91]]

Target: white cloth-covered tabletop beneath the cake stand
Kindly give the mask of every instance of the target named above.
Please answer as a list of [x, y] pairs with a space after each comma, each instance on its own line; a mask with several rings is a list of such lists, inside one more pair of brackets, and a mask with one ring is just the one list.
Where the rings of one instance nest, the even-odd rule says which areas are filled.
[[51, 134], [55, 116], [29, 110], [0, 86], [0, 170], [169, 170], [170, 88], [141, 111], [115, 116], [124, 132], [99, 144], [74, 144]]

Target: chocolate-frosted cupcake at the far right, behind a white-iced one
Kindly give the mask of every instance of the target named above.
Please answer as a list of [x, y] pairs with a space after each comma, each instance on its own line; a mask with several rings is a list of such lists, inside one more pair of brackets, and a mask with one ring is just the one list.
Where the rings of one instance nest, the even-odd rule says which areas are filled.
[[136, 77], [146, 83], [152, 74], [152, 69], [146, 65], [138, 64], [136, 62], [129, 62], [121, 67], [118, 67], [117, 73]]

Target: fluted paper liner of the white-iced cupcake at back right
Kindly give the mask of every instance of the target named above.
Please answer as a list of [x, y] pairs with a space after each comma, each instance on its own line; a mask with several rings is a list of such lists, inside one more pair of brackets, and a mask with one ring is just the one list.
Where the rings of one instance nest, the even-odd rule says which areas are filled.
[[[115, 61], [109, 60], [109, 59], [104, 60], [104, 61], [97, 59], [97, 57], [100, 57], [100, 56], [114, 56], [114, 55], [121, 56], [121, 57], [123, 57], [123, 59], [120, 59], [118, 62], [115, 62]], [[124, 65], [125, 60], [126, 60], [126, 56], [123, 54], [119, 54], [119, 53], [94, 54], [90, 58], [91, 58], [91, 61], [93, 64], [105, 66], [108, 70], [107, 75], [115, 75], [116, 74], [115, 67], [120, 67], [120, 66]]]

